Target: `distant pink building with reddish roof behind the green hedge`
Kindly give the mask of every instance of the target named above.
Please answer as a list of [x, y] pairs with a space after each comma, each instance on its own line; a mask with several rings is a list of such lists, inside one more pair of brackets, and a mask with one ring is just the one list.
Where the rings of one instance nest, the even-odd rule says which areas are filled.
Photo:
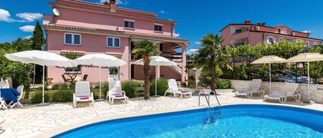
[[279, 43], [280, 41], [289, 41], [292, 43], [304, 42], [305, 46], [319, 45], [321, 39], [310, 38], [309, 32], [297, 32], [284, 25], [275, 27], [266, 26], [265, 23], [252, 24], [246, 20], [244, 23], [231, 23], [220, 30], [220, 33], [227, 45], [258, 43]]

